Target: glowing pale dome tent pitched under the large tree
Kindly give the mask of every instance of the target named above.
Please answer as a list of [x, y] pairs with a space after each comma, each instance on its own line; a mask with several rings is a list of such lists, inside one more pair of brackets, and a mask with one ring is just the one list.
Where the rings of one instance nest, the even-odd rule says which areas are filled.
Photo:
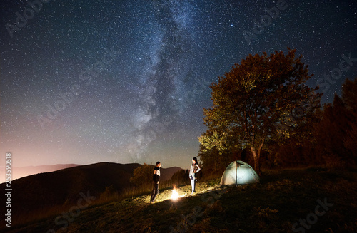
[[221, 185], [246, 185], [259, 182], [256, 171], [243, 161], [234, 161], [223, 172]]

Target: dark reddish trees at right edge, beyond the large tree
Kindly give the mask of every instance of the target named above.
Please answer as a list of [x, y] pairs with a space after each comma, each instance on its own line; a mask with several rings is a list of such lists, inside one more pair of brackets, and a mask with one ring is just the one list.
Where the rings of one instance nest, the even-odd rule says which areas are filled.
[[346, 79], [342, 96], [315, 111], [317, 122], [307, 129], [307, 138], [271, 142], [261, 162], [266, 167], [324, 165], [329, 169], [355, 166], [357, 162], [357, 79]]

